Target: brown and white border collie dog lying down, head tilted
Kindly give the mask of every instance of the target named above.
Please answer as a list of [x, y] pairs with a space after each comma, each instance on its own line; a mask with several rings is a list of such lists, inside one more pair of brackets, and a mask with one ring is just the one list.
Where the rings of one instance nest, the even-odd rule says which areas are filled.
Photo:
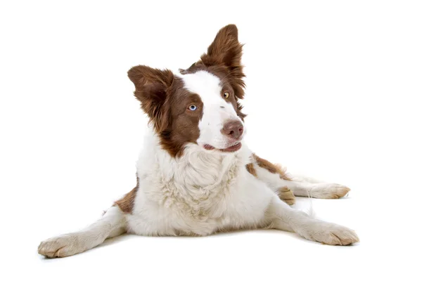
[[289, 174], [248, 149], [241, 55], [237, 27], [227, 25], [186, 70], [132, 67], [134, 96], [153, 125], [137, 162], [137, 185], [91, 226], [41, 242], [39, 254], [72, 256], [122, 233], [273, 228], [323, 244], [358, 242], [353, 230], [289, 206], [295, 196], [339, 198], [349, 188]]

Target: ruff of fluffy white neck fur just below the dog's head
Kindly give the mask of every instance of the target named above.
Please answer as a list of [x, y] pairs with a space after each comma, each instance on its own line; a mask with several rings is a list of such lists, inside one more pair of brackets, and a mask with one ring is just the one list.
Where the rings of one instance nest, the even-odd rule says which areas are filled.
[[153, 176], [163, 185], [184, 189], [212, 190], [230, 185], [250, 156], [245, 145], [236, 153], [221, 153], [206, 151], [191, 143], [186, 145], [180, 157], [172, 157], [161, 148], [158, 136], [152, 131], [146, 141], [146, 147], [150, 149], [139, 157], [138, 176]]

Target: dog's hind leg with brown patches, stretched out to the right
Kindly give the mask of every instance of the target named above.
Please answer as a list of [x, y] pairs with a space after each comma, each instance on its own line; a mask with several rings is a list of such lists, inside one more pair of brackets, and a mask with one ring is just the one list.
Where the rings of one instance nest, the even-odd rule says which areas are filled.
[[252, 155], [252, 162], [246, 169], [258, 179], [267, 183], [280, 199], [294, 204], [295, 196], [335, 199], [347, 195], [350, 188], [338, 183], [324, 183], [314, 178], [289, 174], [281, 166]]

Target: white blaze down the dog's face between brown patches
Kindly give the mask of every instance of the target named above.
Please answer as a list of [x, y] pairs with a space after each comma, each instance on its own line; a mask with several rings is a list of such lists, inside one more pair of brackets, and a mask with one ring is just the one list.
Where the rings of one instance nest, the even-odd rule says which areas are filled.
[[222, 135], [221, 129], [229, 119], [241, 119], [231, 103], [222, 97], [220, 79], [207, 71], [180, 76], [188, 91], [197, 93], [203, 102], [203, 117], [199, 122], [200, 136], [198, 144], [209, 144], [215, 148], [226, 148], [228, 140]]

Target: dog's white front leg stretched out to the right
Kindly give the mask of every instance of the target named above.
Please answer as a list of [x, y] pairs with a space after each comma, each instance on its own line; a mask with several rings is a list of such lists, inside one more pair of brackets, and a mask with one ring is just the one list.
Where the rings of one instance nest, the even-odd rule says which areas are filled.
[[353, 230], [335, 223], [310, 218], [303, 211], [292, 209], [274, 196], [266, 212], [270, 228], [298, 233], [307, 240], [330, 245], [348, 245], [359, 242]]

